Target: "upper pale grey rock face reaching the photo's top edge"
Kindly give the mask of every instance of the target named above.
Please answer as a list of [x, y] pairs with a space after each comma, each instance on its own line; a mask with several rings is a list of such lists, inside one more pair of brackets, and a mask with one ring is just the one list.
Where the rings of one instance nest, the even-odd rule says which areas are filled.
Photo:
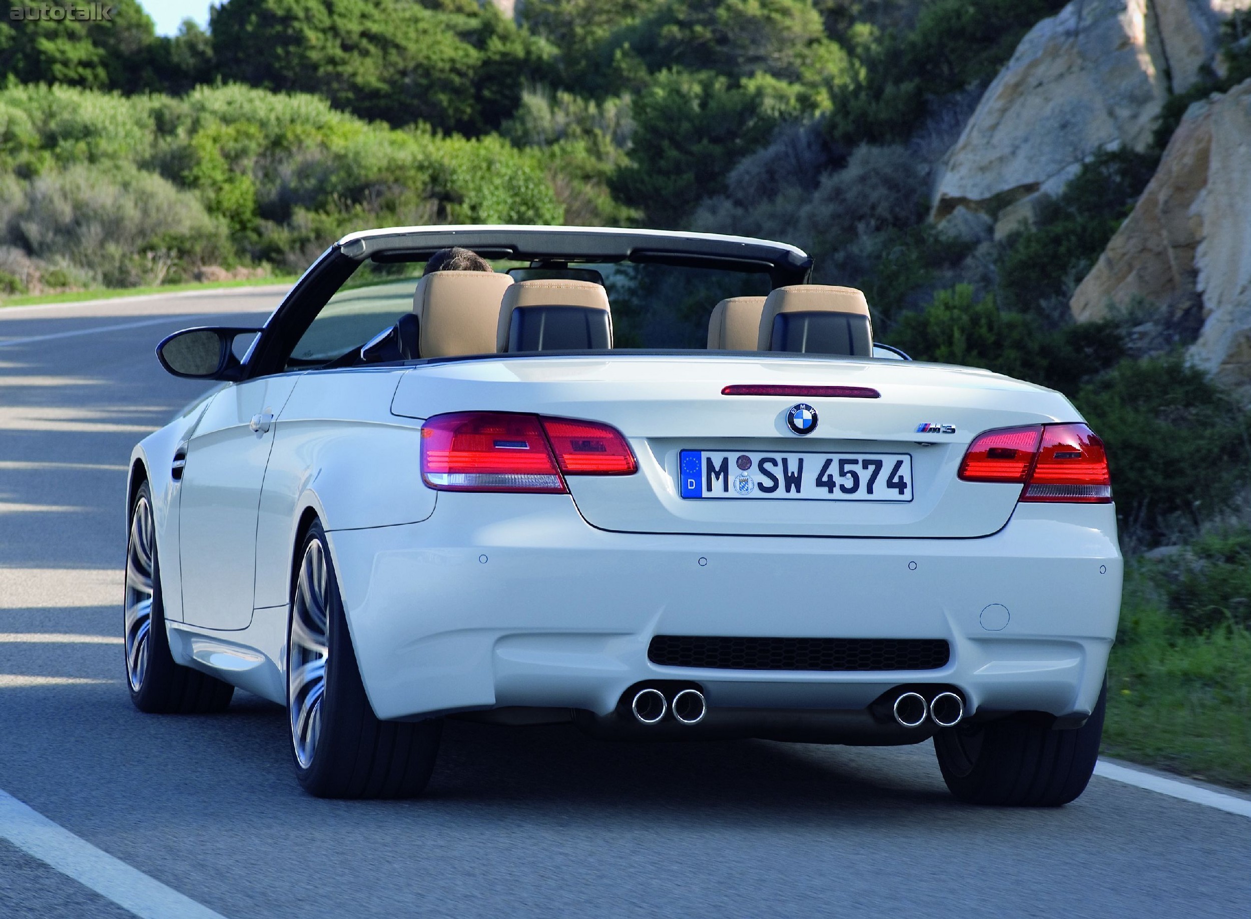
[[1038, 23], [943, 164], [933, 218], [997, 215], [1058, 193], [1098, 150], [1143, 149], [1170, 93], [1216, 63], [1222, 19], [1251, 0], [1073, 0]]

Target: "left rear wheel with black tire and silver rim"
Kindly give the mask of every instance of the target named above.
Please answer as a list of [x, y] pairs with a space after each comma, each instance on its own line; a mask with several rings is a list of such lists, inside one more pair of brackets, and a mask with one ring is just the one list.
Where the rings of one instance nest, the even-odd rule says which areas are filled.
[[[315, 560], [318, 556], [320, 563]], [[324, 578], [317, 575], [318, 565]], [[310, 574], [305, 574], [305, 566], [311, 566]], [[305, 581], [315, 584], [318, 580], [325, 598], [324, 616], [314, 609], [314, 591], [304, 588]], [[324, 621], [324, 644], [315, 645], [319, 620]], [[295, 775], [304, 790], [318, 798], [413, 798], [420, 794], [434, 770], [443, 721], [382, 721], [374, 715], [348, 634], [330, 548], [317, 521], [309, 528], [296, 556], [288, 623], [289, 736]], [[318, 656], [317, 648], [324, 650], [324, 656]], [[325, 668], [320, 698], [314, 704], [305, 704], [317, 690], [311, 679], [299, 674], [304, 664], [317, 664], [319, 659]], [[315, 666], [311, 671], [315, 673]], [[309, 714], [301, 718], [304, 711]], [[311, 741], [308, 730], [298, 725], [311, 725]]]

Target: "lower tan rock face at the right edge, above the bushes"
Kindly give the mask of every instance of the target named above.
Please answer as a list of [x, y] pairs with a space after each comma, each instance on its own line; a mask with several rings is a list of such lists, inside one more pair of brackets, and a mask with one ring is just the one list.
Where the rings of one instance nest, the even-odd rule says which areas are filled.
[[1163, 345], [1193, 340], [1191, 360], [1251, 398], [1251, 80], [1190, 108], [1070, 306], [1078, 321], [1130, 310]]

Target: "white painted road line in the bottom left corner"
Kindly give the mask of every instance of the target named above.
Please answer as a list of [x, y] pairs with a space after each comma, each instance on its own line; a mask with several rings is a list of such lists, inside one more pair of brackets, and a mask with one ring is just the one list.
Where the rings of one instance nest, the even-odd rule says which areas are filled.
[[223, 919], [0, 790], [0, 836], [140, 919]]

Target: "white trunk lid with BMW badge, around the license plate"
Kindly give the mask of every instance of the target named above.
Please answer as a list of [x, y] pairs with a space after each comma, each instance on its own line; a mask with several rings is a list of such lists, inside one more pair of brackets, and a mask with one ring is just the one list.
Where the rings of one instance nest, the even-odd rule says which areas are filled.
[[[722, 395], [734, 384], [866, 386], [881, 398]], [[798, 403], [811, 405], [818, 418], [804, 436], [792, 433], [786, 420]], [[970, 441], [991, 428], [1082, 420], [1061, 394], [985, 370], [803, 355], [448, 361], [408, 371], [392, 404], [394, 414], [409, 418], [472, 410], [587, 419], [620, 430], [638, 456], [638, 474], [568, 478], [579, 513], [593, 526], [776, 536], [992, 534], [1012, 515], [1021, 486], [957, 479]], [[921, 425], [937, 430], [918, 433]], [[748, 453], [907, 454], [911, 500], [683, 498], [684, 450], [731, 454], [732, 465], [733, 454]]]

